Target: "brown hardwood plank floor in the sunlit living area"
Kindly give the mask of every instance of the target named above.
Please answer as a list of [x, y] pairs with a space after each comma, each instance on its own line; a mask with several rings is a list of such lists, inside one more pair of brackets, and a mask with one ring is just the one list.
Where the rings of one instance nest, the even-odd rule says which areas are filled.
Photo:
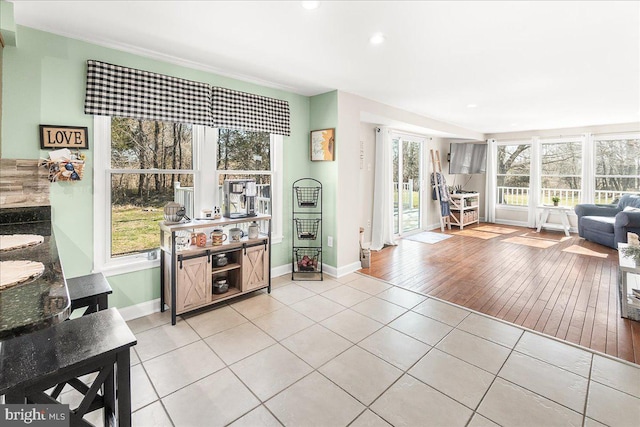
[[620, 317], [617, 251], [493, 224], [445, 234], [372, 251], [360, 272], [640, 364], [640, 322]]

